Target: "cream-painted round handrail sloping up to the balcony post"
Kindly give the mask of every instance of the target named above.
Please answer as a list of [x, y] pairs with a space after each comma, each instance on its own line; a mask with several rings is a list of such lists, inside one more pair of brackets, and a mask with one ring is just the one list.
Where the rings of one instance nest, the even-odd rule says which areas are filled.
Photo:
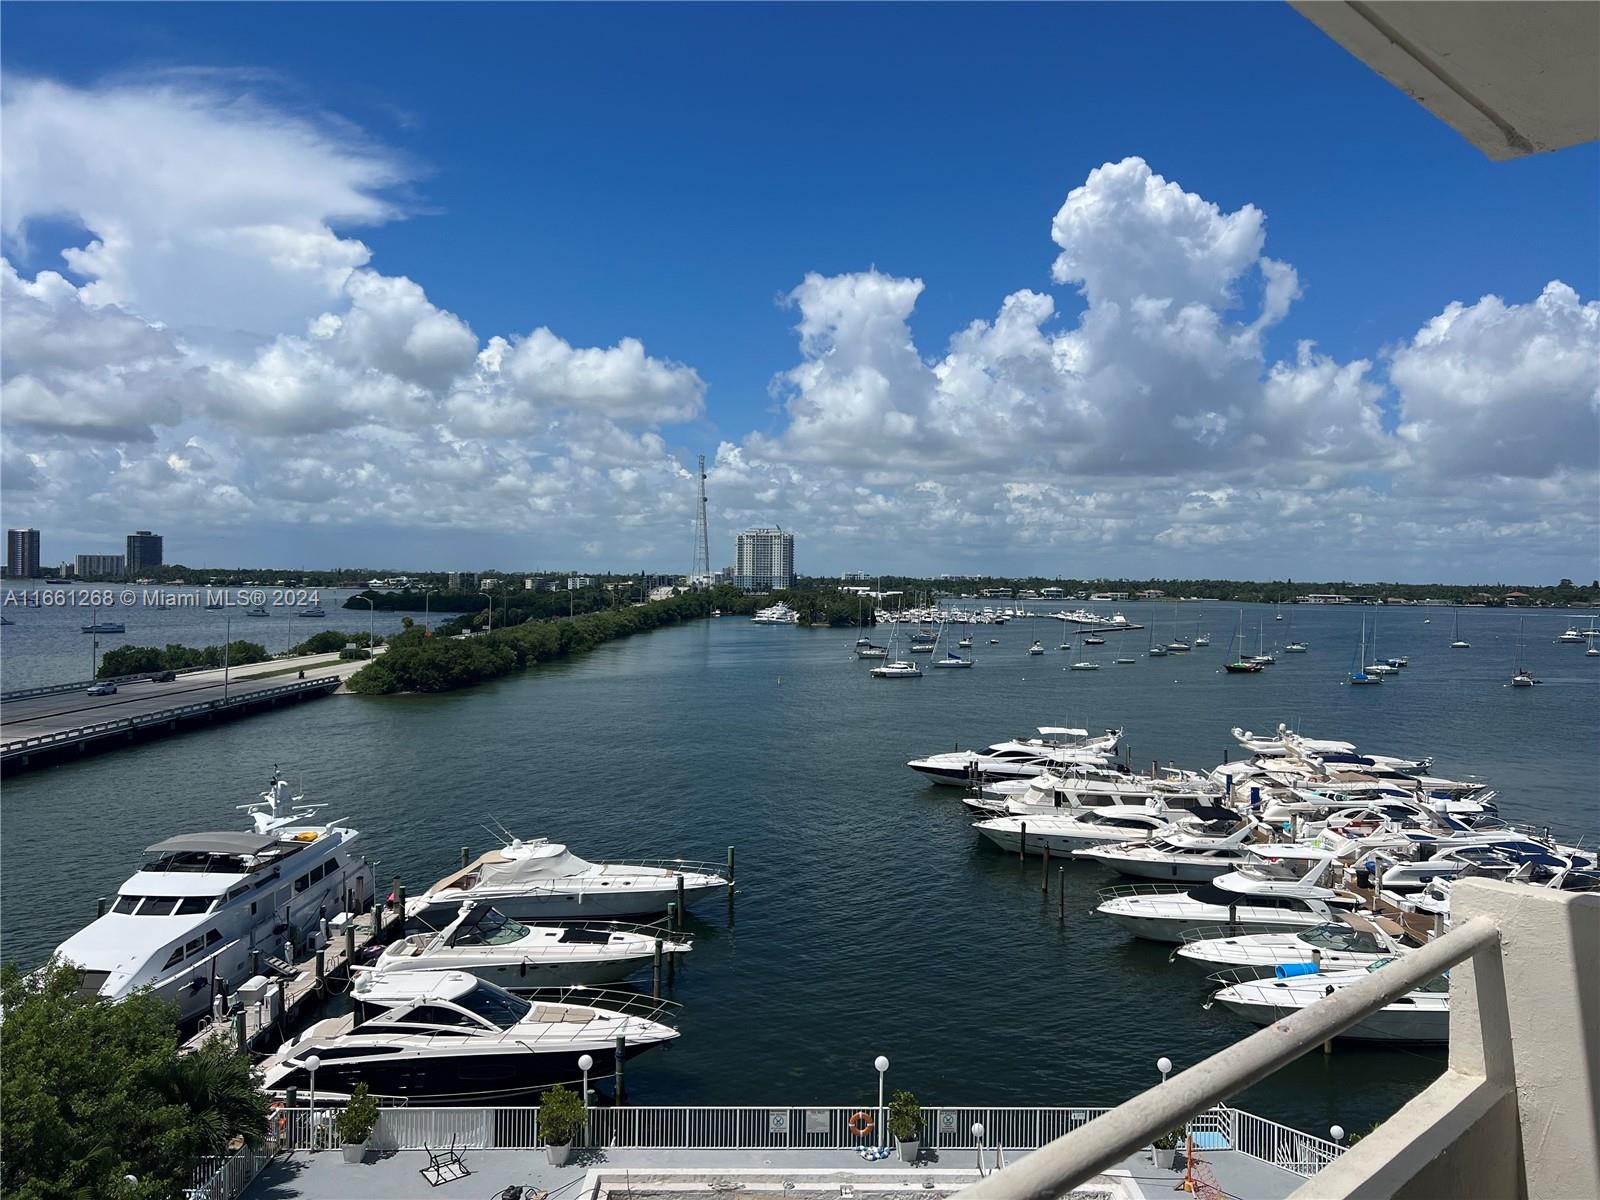
[[1474, 917], [1437, 941], [1341, 987], [1298, 1013], [1235, 1042], [1160, 1086], [1134, 1096], [1034, 1154], [966, 1189], [968, 1200], [1054, 1200], [1126, 1158], [1194, 1114], [1243, 1091], [1312, 1046], [1338, 1037], [1379, 1008], [1456, 963], [1499, 946], [1499, 928]]

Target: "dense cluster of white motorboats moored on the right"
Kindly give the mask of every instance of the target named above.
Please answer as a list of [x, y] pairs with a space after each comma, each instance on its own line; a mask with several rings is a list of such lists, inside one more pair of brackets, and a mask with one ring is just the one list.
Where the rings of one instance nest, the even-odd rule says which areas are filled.
[[[1600, 890], [1592, 851], [1510, 826], [1490, 787], [1438, 776], [1430, 758], [1235, 728], [1248, 757], [1144, 774], [1117, 762], [1117, 730], [1038, 733], [909, 765], [966, 789], [984, 842], [1122, 875], [1099, 890], [1096, 912], [1208, 968], [1206, 1006], [1258, 1024], [1437, 936], [1454, 880]], [[1434, 1043], [1448, 1024], [1440, 976], [1346, 1037]]]

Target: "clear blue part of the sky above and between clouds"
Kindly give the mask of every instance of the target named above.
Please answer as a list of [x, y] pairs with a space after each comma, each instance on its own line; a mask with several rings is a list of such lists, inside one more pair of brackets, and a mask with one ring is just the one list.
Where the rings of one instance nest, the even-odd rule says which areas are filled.
[[[1051, 216], [1094, 168], [1128, 157], [1222, 214], [1245, 205], [1266, 214], [1262, 254], [1293, 264], [1299, 298], [1262, 331], [1259, 374], [1294, 360], [1301, 339], [1339, 363], [1370, 360], [1370, 403], [1389, 434], [1400, 405], [1382, 355], [1448, 304], [1496, 294], [1526, 306], [1562, 280], [1587, 314], [1600, 294], [1597, 147], [1490, 163], [1286, 6], [6, 5], [3, 21], [13, 83], [42, 78], [94, 94], [160, 80], [211, 98], [219, 120], [248, 94], [347, 150], [371, 147], [410, 176], [370, 189], [395, 205], [392, 219], [330, 214], [328, 227], [365, 243], [371, 270], [414, 280], [480, 341], [549, 326], [574, 347], [635, 338], [653, 360], [693, 368], [704, 392], [690, 419], [622, 422], [680, 458], [752, 435], [768, 445], [744, 445], [747, 459], [758, 450], [782, 458], [774, 446], [795, 435], [786, 403], [795, 386], [774, 394], [773, 381], [802, 357], [802, 314], [784, 298], [808, 272], [922, 280], [907, 325], [923, 360], [1024, 288], [1054, 298], [1046, 333], [1070, 331], [1085, 301], [1075, 285], [1051, 280], [1061, 251]], [[82, 214], [32, 211], [8, 219], [5, 253], [32, 278], [62, 270], [62, 245], [88, 240]], [[67, 274], [75, 285], [91, 282]], [[1261, 283], [1240, 277], [1238, 304], [1218, 312], [1248, 322]], [[152, 301], [141, 309], [128, 291], [118, 302], [173, 328]], [[1581, 406], [1587, 379], [1578, 387]], [[571, 406], [581, 413], [582, 400]], [[1578, 419], [1581, 427], [1582, 413]], [[205, 426], [205, 414], [186, 413], [170, 432], [195, 437]], [[810, 453], [792, 442], [789, 451]], [[885, 453], [893, 458], [894, 446]], [[1059, 482], [1051, 464], [1035, 466]], [[1579, 486], [1592, 486], [1592, 466], [1576, 464], [1579, 474], [1589, 469]], [[840, 474], [829, 482], [824, 467]], [[768, 496], [774, 518], [813, 534], [818, 568], [867, 557], [941, 565], [894, 549], [888, 525], [880, 541], [870, 514], [856, 512], [859, 526], [829, 517], [816, 493], [837, 490], [854, 469], [832, 461], [816, 470], [803, 483], [750, 483], [725, 523], [755, 512], [750, 498]], [[1326, 486], [1373, 478], [1373, 494], [1387, 496], [1390, 475], [1376, 467], [1365, 475], [1352, 467]], [[906, 475], [870, 486], [894, 509], [917, 483]], [[1174, 502], [1206, 483], [1174, 483]], [[810, 499], [786, 502], [792, 494]], [[26, 496], [8, 501], [29, 506]], [[618, 496], [616, 507], [634, 512], [635, 501]], [[944, 493], [942, 502], [958, 498]], [[477, 554], [507, 565], [589, 555], [667, 566], [683, 557], [674, 504], [661, 506], [658, 533], [600, 539], [598, 554], [595, 538], [530, 533], [528, 523], [466, 536]], [[366, 528], [352, 515], [314, 522], [322, 528], [307, 539], [304, 526], [291, 533], [294, 522], [258, 517], [269, 557], [310, 544], [333, 552], [341, 531], [360, 530], [397, 562], [408, 550], [432, 558], [462, 536], [450, 522], [430, 531], [395, 520]], [[1507, 512], [1475, 518], [1504, 525]], [[75, 514], [70, 526], [90, 536], [94, 520]], [[997, 520], [995, 528], [1016, 528]], [[1442, 528], [1429, 525], [1437, 520], [1419, 528]], [[1451, 520], [1459, 526], [1466, 517]], [[854, 533], [827, 539], [826, 528], [846, 525]], [[197, 549], [237, 541], [221, 520], [200, 522], [189, 536]], [[1158, 571], [1165, 558], [1184, 557], [1182, 539], [1163, 550], [1142, 534], [1118, 534], [1094, 549], [1101, 539], [1085, 536], [955, 538], [949, 570], [971, 568], [986, 546], [1002, 547], [995, 570], [1051, 555], [1075, 562], [1080, 550], [1109, 570]], [[1515, 541], [1530, 571], [1554, 570], [1570, 554]], [[1259, 530], [1211, 546], [1222, 547], [1232, 573], [1261, 573], [1250, 570], [1261, 563]], [[1429, 562], [1421, 541], [1411, 550], [1395, 573], [1459, 566], [1456, 555]], [[1298, 555], [1306, 550], [1285, 544], [1267, 558], [1314, 573]], [[1482, 570], [1469, 566], [1467, 574]]]

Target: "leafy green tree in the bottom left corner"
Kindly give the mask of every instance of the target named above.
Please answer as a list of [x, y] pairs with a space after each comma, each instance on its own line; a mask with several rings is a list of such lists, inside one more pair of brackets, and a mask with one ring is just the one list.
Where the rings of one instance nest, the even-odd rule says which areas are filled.
[[197, 1157], [259, 1139], [267, 1101], [248, 1058], [218, 1046], [179, 1062], [170, 1005], [146, 994], [112, 1003], [78, 981], [64, 965], [0, 971], [0, 1192], [173, 1197]]

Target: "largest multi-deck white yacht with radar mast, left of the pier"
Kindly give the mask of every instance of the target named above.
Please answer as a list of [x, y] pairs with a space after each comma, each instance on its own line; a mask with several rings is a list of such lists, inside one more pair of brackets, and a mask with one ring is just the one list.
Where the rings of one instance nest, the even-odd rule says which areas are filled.
[[150, 989], [179, 1021], [211, 1008], [219, 987], [251, 976], [251, 950], [304, 949], [322, 920], [362, 912], [373, 870], [354, 851], [354, 829], [314, 819], [274, 774], [261, 802], [240, 805], [254, 829], [179, 834], [157, 842], [110, 909], [67, 938], [56, 955], [83, 970], [83, 990], [122, 1000]]

